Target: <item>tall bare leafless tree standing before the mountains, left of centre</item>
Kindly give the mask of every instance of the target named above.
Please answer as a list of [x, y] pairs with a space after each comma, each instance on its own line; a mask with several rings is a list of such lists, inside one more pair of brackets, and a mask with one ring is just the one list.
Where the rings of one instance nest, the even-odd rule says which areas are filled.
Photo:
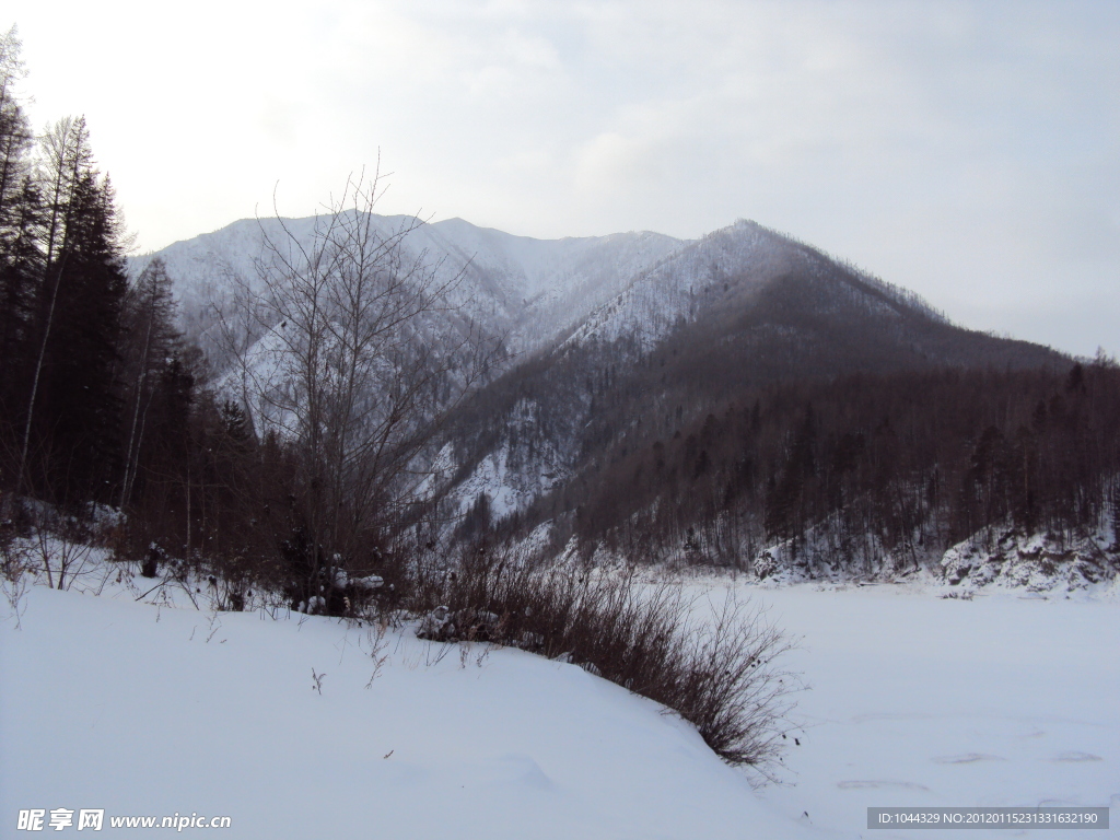
[[217, 311], [223, 335], [259, 336], [227, 348], [231, 390], [291, 454], [281, 553], [309, 609], [333, 612], [339, 571], [379, 566], [424, 500], [421, 455], [498, 346], [450, 299], [463, 272], [405, 248], [423, 223], [386, 230], [374, 215], [382, 192], [376, 174], [351, 178], [309, 231], [279, 213], [261, 222], [258, 282], [239, 280], [227, 299], [243, 305]]

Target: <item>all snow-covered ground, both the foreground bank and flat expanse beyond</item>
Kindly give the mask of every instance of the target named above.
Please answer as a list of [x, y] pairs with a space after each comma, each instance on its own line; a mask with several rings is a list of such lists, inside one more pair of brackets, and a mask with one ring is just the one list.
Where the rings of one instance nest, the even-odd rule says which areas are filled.
[[[717, 604], [744, 588], [689, 586]], [[936, 832], [869, 832], [868, 806], [1120, 806], [1114, 592], [747, 589], [802, 637], [786, 664], [811, 685], [785, 784], [760, 791], [572, 665], [157, 607], [112, 581], [32, 587], [21, 628], [7, 607], [0, 626], [0, 836], [24, 833], [20, 810], [65, 808], [134, 837], [160, 832], [109, 818], [228, 815], [231, 838], [887, 840]]]

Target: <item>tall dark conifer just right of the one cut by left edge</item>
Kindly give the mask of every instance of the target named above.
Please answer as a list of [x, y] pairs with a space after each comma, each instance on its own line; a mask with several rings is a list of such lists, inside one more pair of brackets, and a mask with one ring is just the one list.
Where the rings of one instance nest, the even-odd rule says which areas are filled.
[[112, 187], [93, 167], [84, 119], [60, 120], [41, 149], [43, 274], [17, 486], [30, 482], [59, 502], [108, 500], [120, 437], [122, 230]]

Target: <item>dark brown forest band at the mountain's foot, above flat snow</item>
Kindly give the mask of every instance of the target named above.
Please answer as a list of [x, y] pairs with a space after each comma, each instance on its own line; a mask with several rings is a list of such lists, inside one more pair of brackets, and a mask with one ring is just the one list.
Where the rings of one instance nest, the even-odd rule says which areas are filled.
[[552, 520], [562, 539], [635, 559], [743, 569], [784, 544], [816, 572], [916, 568], [990, 528], [1061, 540], [1104, 526], [1120, 542], [1107, 358], [772, 383], [674, 419], [587, 441], [577, 477], [505, 533]]

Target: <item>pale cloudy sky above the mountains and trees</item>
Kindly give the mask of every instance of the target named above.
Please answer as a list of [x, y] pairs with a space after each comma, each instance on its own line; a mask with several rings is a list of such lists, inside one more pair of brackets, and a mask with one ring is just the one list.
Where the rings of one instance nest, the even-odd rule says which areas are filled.
[[[12, 15], [18, 17], [11, 17]], [[553, 239], [753, 218], [965, 326], [1120, 354], [1120, 2], [57, 0], [37, 128], [85, 114], [141, 250], [380, 209]]]

